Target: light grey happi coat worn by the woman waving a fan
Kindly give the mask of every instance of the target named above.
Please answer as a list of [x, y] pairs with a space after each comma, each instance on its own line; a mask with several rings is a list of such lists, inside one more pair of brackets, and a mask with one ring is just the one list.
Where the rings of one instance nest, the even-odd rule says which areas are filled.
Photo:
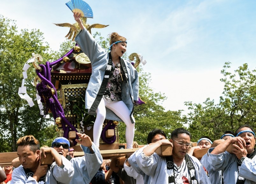
[[[95, 41], [94, 37], [86, 30], [81, 30], [75, 37], [76, 43], [80, 46], [82, 51], [89, 57], [92, 65], [92, 74], [85, 93], [85, 108], [88, 109], [88, 113], [96, 115], [96, 109], [100, 103], [100, 99], [96, 99], [99, 93], [100, 86], [103, 78], [108, 77], [105, 74], [105, 70], [109, 61], [109, 54]], [[135, 122], [133, 118], [133, 100], [139, 99], [139, 78], [138, 72], [133, 65], [124, 60], [124, 71], [127, 71], [128, 80], [124, 80], [122, 83], [122, 101], [128, 107], [131, 112], [131, 121]], [[104, 91], [105, 91], [104, 87]], [[106, 108], [106, 119], [122, 121], [114, 112]]]

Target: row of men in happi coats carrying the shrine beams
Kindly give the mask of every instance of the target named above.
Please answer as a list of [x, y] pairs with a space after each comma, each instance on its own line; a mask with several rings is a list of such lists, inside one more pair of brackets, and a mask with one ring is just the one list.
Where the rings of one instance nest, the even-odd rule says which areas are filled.
[[[184, 128], [171, 133], [171, 139], [160, 129], [152, 130], [148, 145], [124, 160], [103, 160], [99, 149], [86, 134], [76, 140], [84, 156], [72, 158], [73, 145], [64, 137], [56, 138], [51, 147], [41, 147], [32, 135], [17, 141], [18, 158], [12, 167], [0, 167], [2, 183], [91, 183], [91, 184], [251, 184], [256, 183], [255, 133], [251, 126], [240, 126], [235, 133], [226, 131], [220, 140], [203, 136], [197, 146]], [[172, 147], [171, 156], [159, 156], [162, 145]], [[201, 160], [194, 151], [209, 148]], [[53, 163], [41, 164], [42, 157], [52, 155]]]

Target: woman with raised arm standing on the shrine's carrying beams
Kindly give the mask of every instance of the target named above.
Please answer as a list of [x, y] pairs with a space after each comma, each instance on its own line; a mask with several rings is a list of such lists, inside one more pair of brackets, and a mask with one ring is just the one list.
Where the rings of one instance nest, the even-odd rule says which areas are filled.
[[99, 147], [103, 122], [110, 119], [125, 123], [127, 148], [132, 148], [135, 124], [133, 102], [139, 99], [139, 78], [133, 65], [121, 58], [126, 51], [126, 38], [112, 33], [108, 53], [85, 29], [80, 17], [81, 14], [74, 12], [74, 18], [81, 27], [75, 41], [92, 65], [85, 108], [89, 114], [97, 115], [93, 128], [94, 144]]

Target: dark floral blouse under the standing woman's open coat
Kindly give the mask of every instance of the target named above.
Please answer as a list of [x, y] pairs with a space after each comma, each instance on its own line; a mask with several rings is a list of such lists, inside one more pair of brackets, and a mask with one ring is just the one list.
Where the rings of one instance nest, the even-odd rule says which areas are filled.
[[[106, 86], [106, 90], [103, 94], [103, 97], [107, 99], [107, 101], [121, 101], [121, 84], [122, 84], [122, 78], [121, 75], [124, 73], [122, 66], [120, 66], [120, 63], [117, 63], [115, 65], [112, 63], [111, 73], [108, 80], [108, 84]], [[120, 70], [119, 70], [120, 68]], [[121, 72], [121, 73], [120, 73]], [[120, 75], [121, 74], [121, 75]], [[124, 79], [124, 76], [122, 76]]]

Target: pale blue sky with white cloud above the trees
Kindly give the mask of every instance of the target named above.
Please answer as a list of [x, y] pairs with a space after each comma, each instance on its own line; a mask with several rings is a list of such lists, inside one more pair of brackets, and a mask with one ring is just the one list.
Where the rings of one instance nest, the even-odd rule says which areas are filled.
[[[51, 49], [59, 50], [69, 28], [53, 23], [75, 23], [64, 0], [2, 1], [0, 14], [16, 20], [18, 30], [39, 29]], [[87, 0], [94, 18], [92, 29], [107, 37], [127, 38], [127, 54], [140, 53], [151, 74], [150, 86], [164, 93], [166, 110], [188, 112], [185, 101], [217, 103], [223, 92], [221, 70], [248, 63], [256, 67], [256, 1], [254, 0]], [[35, 51], [36, 53], [36, 51]], [[58, 59], [58, 58], [56, 58]], [[25, 61], [24, 61], [25, 63]], [[22, 72], [22, 71], [21, 71]]]

